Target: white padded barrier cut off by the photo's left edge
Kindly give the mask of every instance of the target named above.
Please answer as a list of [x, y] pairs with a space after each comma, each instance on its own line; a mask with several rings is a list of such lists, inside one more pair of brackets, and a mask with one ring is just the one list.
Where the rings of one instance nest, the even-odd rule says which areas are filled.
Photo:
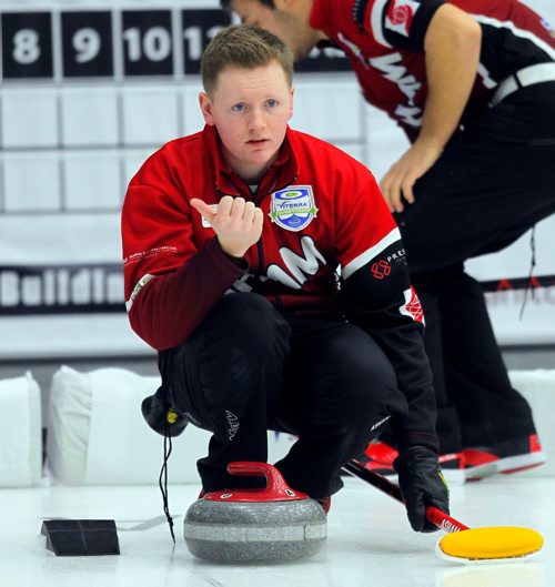
[[0, 487], [29, 487], [41, 479], [40, 389], [31, 373], [0, 381]]

